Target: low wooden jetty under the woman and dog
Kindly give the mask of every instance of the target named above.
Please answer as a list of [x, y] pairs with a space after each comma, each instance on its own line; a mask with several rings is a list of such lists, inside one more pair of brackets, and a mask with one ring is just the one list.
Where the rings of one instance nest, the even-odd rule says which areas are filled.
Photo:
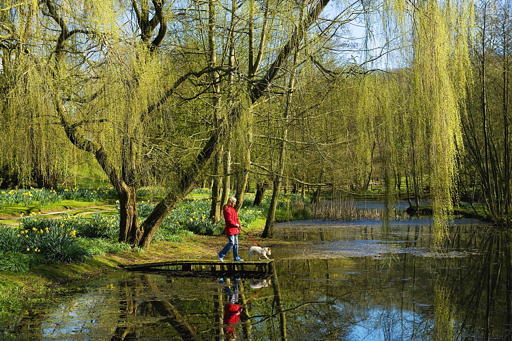
[[151, 263], [138, 263], [122, 265], [126, 270], [146, 271], [146, 270], [170, 270], [170, 271], [247, 271], [257, 270], [264, 273], [272, 271], [273, 260], [261, 261], [210, 261], [210, 260], [189, 260], [181, 259], [174, 261], [162, 261]]

